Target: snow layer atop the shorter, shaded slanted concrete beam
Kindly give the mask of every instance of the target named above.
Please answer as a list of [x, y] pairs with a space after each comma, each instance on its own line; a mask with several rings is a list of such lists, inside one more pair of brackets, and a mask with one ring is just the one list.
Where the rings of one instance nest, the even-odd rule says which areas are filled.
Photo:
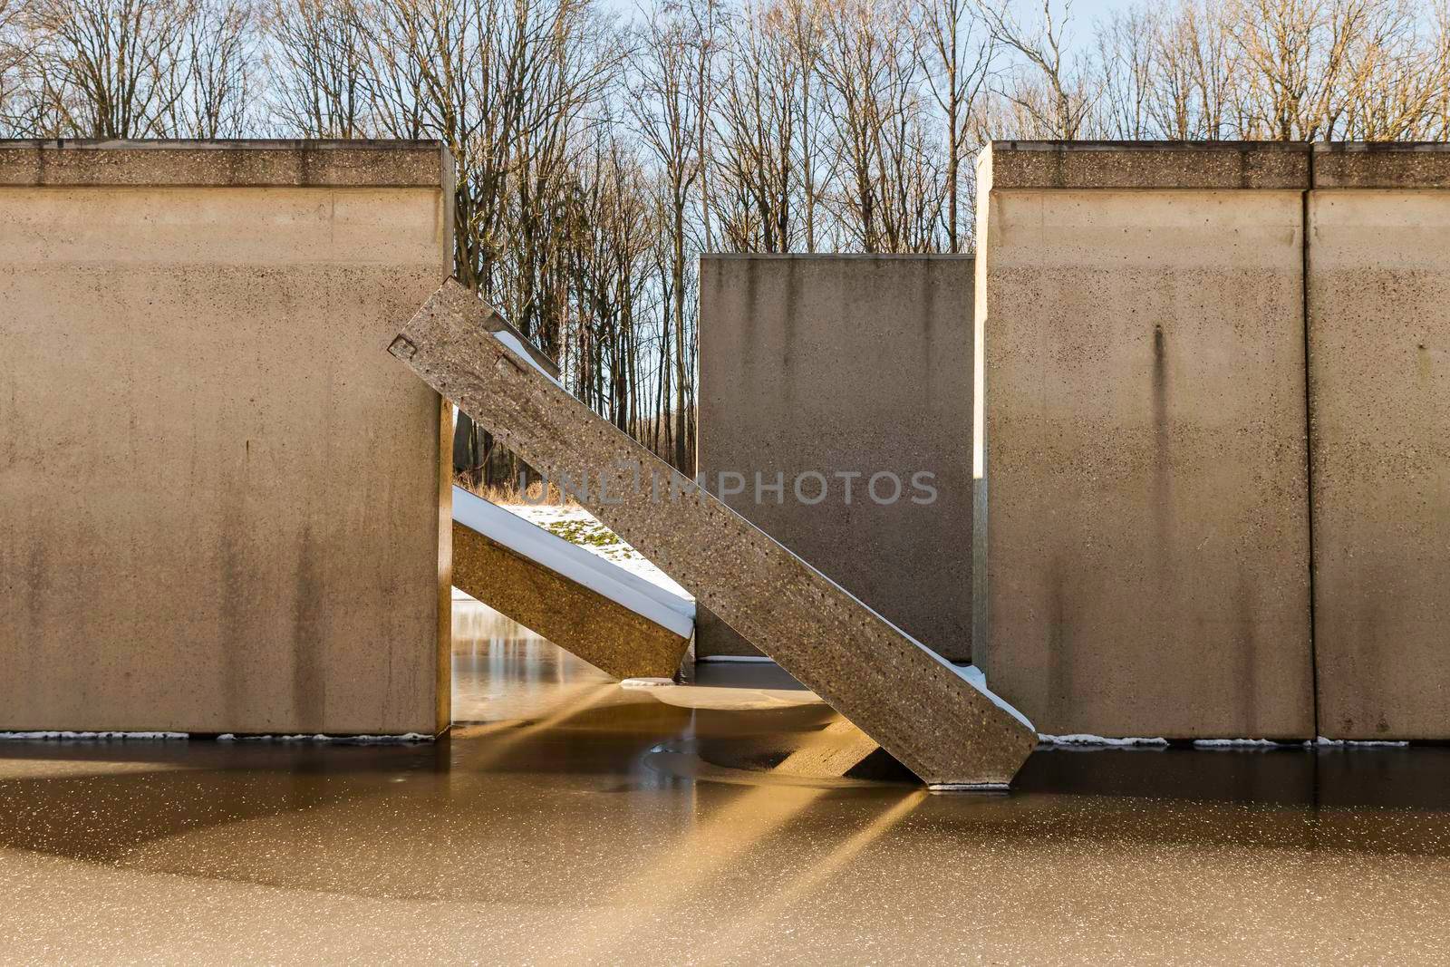
[[671, 594], [658, 584], [574, 547], [557, 534], [496, 507], [483, 497], [454, 487], [454, 520], [496, 541], [535, 564], [587, 587], [596, 594], [667, 628], [680, 638], [695, 634], [695, 602]]

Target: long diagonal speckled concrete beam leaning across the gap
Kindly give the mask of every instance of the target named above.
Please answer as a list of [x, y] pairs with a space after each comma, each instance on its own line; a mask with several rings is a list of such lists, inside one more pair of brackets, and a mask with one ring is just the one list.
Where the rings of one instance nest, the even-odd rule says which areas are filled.
[[390, 352], [928, 783], [1002, 786], [1025, 719], [545, 378], [450, 281]]

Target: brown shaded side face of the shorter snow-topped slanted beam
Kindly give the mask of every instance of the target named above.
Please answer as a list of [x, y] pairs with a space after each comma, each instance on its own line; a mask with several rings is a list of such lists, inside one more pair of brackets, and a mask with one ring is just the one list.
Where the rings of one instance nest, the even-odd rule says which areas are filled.
[[668, 678], [690, 644], [457, 520], [452, 583], [615, 678]]

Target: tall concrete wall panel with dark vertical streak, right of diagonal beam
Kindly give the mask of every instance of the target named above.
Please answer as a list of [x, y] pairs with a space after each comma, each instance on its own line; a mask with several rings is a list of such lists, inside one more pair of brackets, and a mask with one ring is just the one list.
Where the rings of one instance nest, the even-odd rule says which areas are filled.
[[1302, 191], [1011, 178], [1098, 155], [982, 165], [977, 664], [1043, 732], [1309, 736]]

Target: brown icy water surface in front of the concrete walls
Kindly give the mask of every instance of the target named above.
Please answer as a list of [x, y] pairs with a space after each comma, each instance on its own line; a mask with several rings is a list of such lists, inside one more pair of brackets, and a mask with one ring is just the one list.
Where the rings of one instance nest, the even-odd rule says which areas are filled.
[[702, 667], [684, 707], [455, 623], [438, 744], [0, 745], [0, 963], [1450, 957], [1447, 750], [812, 781], [763, 765], [834, 715], [771, 668]]

